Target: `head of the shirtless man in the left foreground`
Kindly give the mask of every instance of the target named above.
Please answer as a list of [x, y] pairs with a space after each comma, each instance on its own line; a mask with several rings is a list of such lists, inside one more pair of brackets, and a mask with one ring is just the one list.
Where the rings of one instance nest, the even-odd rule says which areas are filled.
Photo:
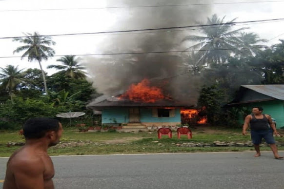
[[31, 118], [23, 126], [23, 135], [26, 140], [45, 138], [49, 146], [59, 142], [63, 129], [61, 123], [52, 118]]

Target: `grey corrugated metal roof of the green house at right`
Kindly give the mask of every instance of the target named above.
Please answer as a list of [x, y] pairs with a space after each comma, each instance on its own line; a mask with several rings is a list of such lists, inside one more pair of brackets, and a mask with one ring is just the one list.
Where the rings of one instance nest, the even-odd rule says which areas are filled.
[[258, 93], [284, 100], [284, 85], [241, 85]]

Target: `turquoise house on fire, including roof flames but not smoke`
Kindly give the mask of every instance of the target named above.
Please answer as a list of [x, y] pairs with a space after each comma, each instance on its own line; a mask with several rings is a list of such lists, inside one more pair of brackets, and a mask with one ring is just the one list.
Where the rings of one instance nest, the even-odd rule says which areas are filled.
[[182, 116], [187, 115], [190, 118], [193, 115], [190, 113], [188, 116], [185, 112], [192, 107], [194, 104], [177, 101], [169, 95], [164, 95], [161, 88], [150, 86], [147, 79], [132, 84], [123, 94], [101, 96], [88, 105], [90, 109], [101, 111], [102, 124], [122, 123], [133, 127], [181, 124]]

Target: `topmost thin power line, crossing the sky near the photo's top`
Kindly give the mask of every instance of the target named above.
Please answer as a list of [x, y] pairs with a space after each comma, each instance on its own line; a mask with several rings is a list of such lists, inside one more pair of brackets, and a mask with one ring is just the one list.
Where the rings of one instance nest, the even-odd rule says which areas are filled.
[[21, 9], [21, 10], [19, 9], [19, 10], [0, 10], [0, 12], [91, 10], [91, 9], [150, 8], [150, 7], [180, 7], [180, 6], [200, 6], [200, 5], [218, 5], [218, 4], [264, 3], [264, 2], [265, 3], [267, 3], [267, 2], [284, 2], [284, 0], [247, 1], [247, 2], [222, 2], [222, 3], [198, 3], [198, 4], [171, 4], [171, 5], [148, 5], [148, 6], [93, 7], [93, 8]]

